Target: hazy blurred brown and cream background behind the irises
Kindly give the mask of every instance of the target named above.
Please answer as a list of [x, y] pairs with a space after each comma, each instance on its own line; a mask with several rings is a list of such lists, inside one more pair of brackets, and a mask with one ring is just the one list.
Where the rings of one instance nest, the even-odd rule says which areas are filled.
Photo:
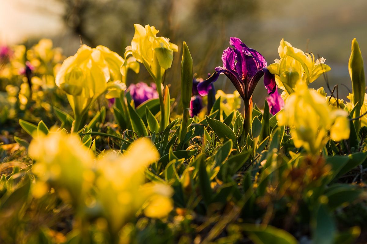
[[[339, 84], [339, 95], [345, 97], [348, 89], [341, 84], [351, 87], [348, 59], [353, 38], [367, 60], [366, 12], [365, 0], [283, 0], [281, 4], [272, 0], [0, 0], [0, 44], [30, 46], [47, 37], [69, 56], [79, 47], [81, 35], [84, 44], [105, 45], [123, 54], [134, 35], [133, 24], [150, 24], [178, 46], [186, 41], [194, 73], [205, 78], [222, 65], [221, 53], [229, 37], [239, 37], [269, 64], [277, 58], [279, 41], [284, 38], [326, 58], [331, 89]], [[180, 61], [178, 52], [166, 75], [173, 96], [179, 94]], [[145, 72], [129, 75], [129, 83], [151, 79]], [[328, 91], [322, 77], [311, 86]], [[225, 76], [216, 87], [233, 90]], [[254, 101], [263, 104], [265, 95], [264, 86], [258, 86]]]

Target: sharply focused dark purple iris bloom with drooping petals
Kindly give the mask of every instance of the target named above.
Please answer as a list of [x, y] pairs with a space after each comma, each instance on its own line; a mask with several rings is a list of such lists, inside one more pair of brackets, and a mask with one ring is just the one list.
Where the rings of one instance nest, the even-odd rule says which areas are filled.
[[214, 74], [208, 79], [200, 82], [197, 90], [200, 95], [207, 95], [210, 85], [215, 82], [219, 74], [225, 74], [244, 101], [250, 101], [260, 78], [264, 75], [264, 85], [268, 89], [268, 94], [275, 91], [275, 76], [266, 68], [268, 65], [265, 58], [256, 50], [248, 48], [239, 38], [231, 37], [229, 47], [223, 51], [223, 66], [215, 68]]

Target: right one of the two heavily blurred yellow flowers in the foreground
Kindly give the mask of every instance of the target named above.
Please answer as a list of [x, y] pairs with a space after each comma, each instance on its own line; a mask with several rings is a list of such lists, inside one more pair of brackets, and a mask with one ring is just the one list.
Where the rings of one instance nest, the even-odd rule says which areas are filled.
[[[153, 144], [143, 138], [126, 153], [110, 152], [97, 161], [97, 199], [113, 232], [118, 232], [142, 207], [148, 217], [156, 218], [163, 218], [172, 210], [171, 187], [144, 184], [146, 167], [158, 158]], [[161, 205], [154, 210], [157, 204]]]

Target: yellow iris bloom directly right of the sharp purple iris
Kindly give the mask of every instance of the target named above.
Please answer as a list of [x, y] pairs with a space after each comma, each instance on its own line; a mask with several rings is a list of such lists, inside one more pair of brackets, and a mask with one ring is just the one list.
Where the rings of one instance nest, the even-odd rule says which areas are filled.
[[[306, 85], [316, 80], [321, 74], [330, 71], [324, 64], [324, 58], [315, 60], [313, 53], [304, 53], [282, 39], [278, 48], [280, 59], [268, 65], [268, 70], [275, 75], [278, 87], [288, 94], [294, 92], [295, 85], [302, 81]], [[287, 98], [286, 95], [282, 95]]]

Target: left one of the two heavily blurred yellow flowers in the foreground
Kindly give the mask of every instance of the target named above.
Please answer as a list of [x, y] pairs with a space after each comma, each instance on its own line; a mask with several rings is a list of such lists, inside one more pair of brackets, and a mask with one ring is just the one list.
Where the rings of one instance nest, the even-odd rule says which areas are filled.
[[44, 192], [43, 182], [57, 189], [66, 202], [76, 205], [83, 202], [86, 191], [92, 187], [92, 181], [87, 181], [84, 174], [91, 172], [94, 158], [78, 136], [61, 132], [34, 136], [29, 156], [36, 161], [32, 170], [39, 180], [34, 187], [35, 196]]

